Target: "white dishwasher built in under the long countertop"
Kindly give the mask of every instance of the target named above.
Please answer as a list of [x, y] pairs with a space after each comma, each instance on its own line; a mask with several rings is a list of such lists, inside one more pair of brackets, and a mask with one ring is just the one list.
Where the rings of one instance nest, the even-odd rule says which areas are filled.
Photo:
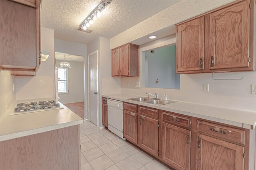
[[124, 139], [123, 109], [123, 102], [108, 99], [108, 130], [122, 139]]

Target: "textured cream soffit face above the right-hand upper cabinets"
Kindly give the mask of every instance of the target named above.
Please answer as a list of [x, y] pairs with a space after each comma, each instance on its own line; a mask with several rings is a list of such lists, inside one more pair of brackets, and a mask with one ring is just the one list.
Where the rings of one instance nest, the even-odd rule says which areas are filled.
[[110, 49], [134, 41], [234, 0], [181, 0], [110, 39]]

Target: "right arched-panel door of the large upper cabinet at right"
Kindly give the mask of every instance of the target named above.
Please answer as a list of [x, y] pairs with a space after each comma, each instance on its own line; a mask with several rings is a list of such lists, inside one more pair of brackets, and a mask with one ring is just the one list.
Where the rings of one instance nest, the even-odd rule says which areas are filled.
[[248, 67], [249, 1], [210, 14], [210, 69]]

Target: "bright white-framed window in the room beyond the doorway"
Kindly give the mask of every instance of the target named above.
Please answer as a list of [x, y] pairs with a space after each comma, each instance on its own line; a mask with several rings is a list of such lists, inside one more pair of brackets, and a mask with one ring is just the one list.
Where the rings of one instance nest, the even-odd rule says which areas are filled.
[[68, 68], [58, 68], [58, 93], [68, 93]]

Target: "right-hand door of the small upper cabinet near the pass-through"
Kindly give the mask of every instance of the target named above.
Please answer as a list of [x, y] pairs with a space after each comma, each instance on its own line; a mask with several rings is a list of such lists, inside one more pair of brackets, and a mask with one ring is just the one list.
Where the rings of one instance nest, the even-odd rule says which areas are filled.
[[129, 75], [129, 45], [120, 47], [120, 76]]

